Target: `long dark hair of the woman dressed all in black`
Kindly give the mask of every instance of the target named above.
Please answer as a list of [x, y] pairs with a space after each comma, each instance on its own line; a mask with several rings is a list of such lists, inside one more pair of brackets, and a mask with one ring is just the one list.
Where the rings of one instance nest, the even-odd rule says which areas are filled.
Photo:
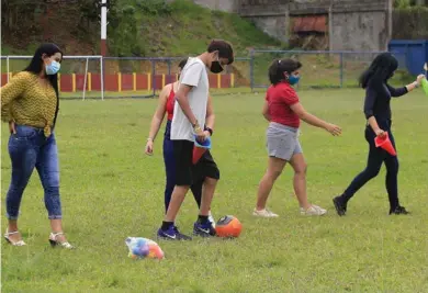
[[386, 82], [398, 68], [397, 59], [388, 52], [379, 54], [359, 78], [360, 87], [365, 89], [369, 82], [382, 86]]

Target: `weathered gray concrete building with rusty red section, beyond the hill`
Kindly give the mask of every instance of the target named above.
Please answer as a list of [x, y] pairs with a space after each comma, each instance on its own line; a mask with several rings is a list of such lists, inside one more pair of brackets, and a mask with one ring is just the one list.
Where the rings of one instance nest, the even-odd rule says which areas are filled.
[[392, 35], [392, 0], [193, 0], [238, 13], [283, 42], [325, 37], [331, 50], [383, 50]]

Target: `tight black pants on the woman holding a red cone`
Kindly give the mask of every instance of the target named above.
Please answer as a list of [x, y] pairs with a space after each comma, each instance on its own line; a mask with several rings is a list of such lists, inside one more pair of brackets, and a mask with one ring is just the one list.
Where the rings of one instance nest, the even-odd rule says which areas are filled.
[[[391, 122], [380, 124], [381, 128], [388, 132], [390, 139], [395, 148], [394, 136], [391, 132]], [[391, 156], [386, 150], [378, 148], [374, 145], [375, 133], [368, 125], [365, 127], [365, 140], [369, 143], [369, 158], [365, 169], [359, 173], [346, 189], [341, 195], [345, 202], [349, 201], [352, 195], [362, 188], [372, 178], [376, 177], [381, 170], [382, 164], [386, 167], [386, 191], [390, 199], [390, 205], [392, 210], [395, 210], [399, 205], [398, 202], [398, 159], [397, 157]]]

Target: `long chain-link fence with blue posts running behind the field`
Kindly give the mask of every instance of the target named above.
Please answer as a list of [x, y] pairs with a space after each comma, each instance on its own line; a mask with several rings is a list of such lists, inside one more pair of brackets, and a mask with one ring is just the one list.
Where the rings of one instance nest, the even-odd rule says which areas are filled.
[[[295, 58], [303, 64], [299, 88], [348, 88], [381, 52], [251, 50], [235, 58], [219, 75], [209, 74], [212, 92], [245, 92], [269, 86], [268, 69], [274, 59]], [[406, 54], [398, 59], [395, 79], [408, 77]], [[1, 56], [1, 84], [22, 71], [31, 56]], [[65, 56], [59, 90], [61, 98], [153, 98], [178, 79], [183, 57]]]

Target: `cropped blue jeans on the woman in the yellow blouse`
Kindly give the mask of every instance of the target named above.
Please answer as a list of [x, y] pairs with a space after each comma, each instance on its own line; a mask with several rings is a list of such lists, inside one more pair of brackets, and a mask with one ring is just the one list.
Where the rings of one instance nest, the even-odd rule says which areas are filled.
[[22, 194], [34, 167], [45, 191], [48, 218], [61, 218], [58, 149], [54, 133], [46, 138], [43, 128], [16, 125], [16, 134], [9, 137], [8, 148], [12, 161], [12, 179], [5, 198], [8, 218], [18, 219]]

